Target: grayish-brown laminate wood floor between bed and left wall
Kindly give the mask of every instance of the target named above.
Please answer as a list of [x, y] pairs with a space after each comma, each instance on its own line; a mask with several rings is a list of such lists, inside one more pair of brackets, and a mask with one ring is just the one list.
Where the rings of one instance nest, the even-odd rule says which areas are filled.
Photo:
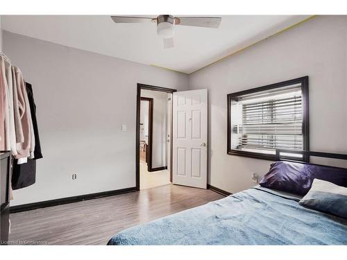
[[208, 189], [169, 184], [34, 209], [10, 214], [9, 239], [27, 244], [105, 245], [123, 229], [220, 198], [223, 196]]

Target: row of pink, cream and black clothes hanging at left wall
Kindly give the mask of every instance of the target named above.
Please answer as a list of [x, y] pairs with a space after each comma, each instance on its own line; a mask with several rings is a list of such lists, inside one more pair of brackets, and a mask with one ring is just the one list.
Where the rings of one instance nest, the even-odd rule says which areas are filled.
[[[0, 150], [14, 155], [10, 187], [35, 183], [36, 159], [42, 158], [33, 89], [22, 72], [0, 53]], [[10, 199], [12, 199], [10, 189]]]

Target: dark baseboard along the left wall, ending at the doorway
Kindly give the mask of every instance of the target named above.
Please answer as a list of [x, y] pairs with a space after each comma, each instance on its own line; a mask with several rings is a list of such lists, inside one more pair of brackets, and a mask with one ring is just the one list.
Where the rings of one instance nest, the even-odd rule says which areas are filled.
[[103, 198], [108, 196], [115, 196], [123, 193], [136, 191], [136, 187], [130, 187], [126, 189], [117, 189], [115, 191], [103, 191], [98, 193], [85, 194], [80, 196], [68, 197], [68, 198], [58, 198], [56, 200], [46, 200], [41, 202], [33, 202], [24, 205], [12, 206], [10, 207], [10, 213], [17, 213], [21, 211], [28, 211], [33, 209], [40, 209], [44, 207], [53, 207], [57, 205], [63, 205], [73, 202], [78, 202], [82, 200], [92, 200], [94, 198]]

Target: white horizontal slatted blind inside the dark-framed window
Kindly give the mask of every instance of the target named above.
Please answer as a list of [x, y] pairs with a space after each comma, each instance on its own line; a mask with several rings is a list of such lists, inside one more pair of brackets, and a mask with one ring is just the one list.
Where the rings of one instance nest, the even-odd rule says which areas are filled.
[[242, 124], [234, 125], [237, 149], [275, 153], [276, 149], [303, 150], [303, 103], [301, 89], [266, 98], [241, 101]]

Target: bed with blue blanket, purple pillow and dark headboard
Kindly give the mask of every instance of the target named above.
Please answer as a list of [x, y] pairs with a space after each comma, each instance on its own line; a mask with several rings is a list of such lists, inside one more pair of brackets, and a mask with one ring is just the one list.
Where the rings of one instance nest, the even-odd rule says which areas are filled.
[[[260, 185], [130, 227], [108, 245], [347, 245], [347, 168], [282, 159], [276, 150]], [[347, 161], [346, 161], [347, 162]]]

